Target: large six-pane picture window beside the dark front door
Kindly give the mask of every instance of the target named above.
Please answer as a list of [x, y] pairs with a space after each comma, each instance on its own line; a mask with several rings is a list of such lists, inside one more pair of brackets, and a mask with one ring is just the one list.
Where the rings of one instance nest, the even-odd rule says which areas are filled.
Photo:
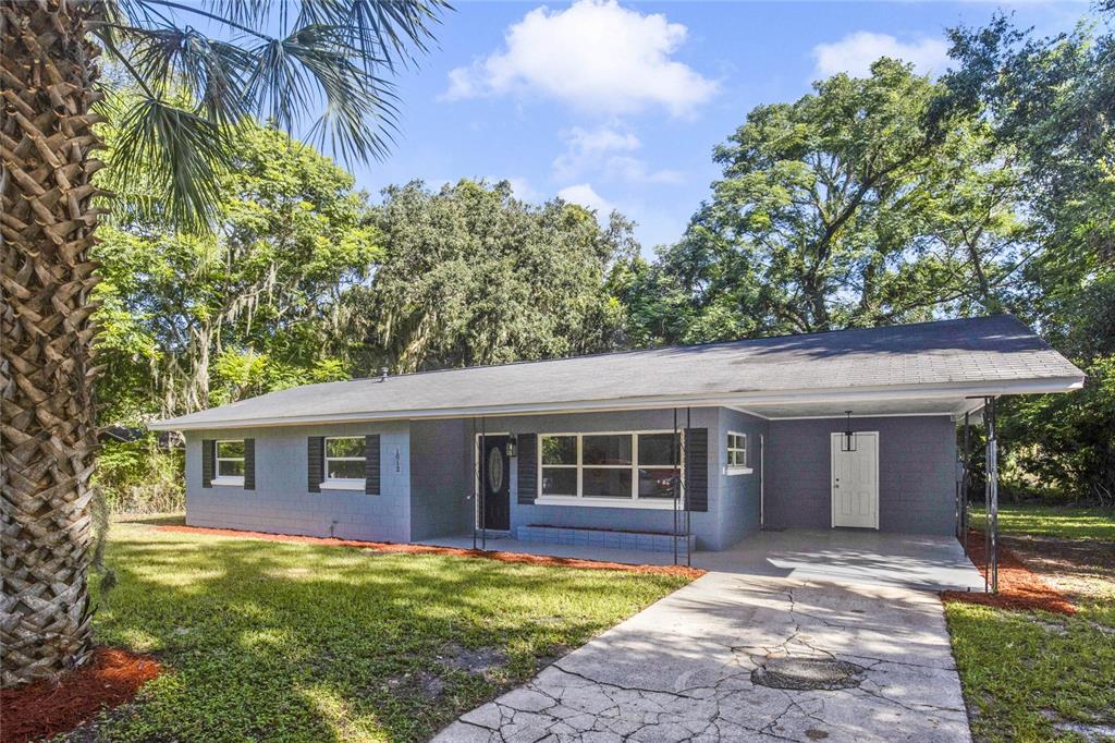
[[673, 432], [542, 434], [540, 440], [543, 503], [583, 499], [586, 505], [668, 506], [673, 499], [681, 457], [680, 435]]

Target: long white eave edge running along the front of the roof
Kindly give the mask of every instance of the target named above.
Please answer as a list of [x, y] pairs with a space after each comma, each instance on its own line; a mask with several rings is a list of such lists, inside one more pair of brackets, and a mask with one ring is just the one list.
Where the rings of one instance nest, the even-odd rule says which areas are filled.
[[828, 387], [779, 392], [717, 393], [689, 396], [618, 397], [610, 399], [566, 401], [561, 403], [522, 403], [452, 408], [415, 408], [405, 411], [361, 411], [345, 414], [272, 416], [237, 419], [190, 421], [191, 416], [156, 421], [153, 431], [220, 431], [225, 428], [260, 428], [328, 423], [369, 423], [429, 418], [533, 415], [543, 413], [592, 413], [660, 407], [704, 407], [745, 405], [747, 403], [812, 403], [873, 399], [928, 399], [933, 397], [992, 397], [1000, 395], [1034, 395], [1066, 393], [1084, 386], [1084, 375], [1040, 377], [977, 383], [938, 383], [932, 385], [879, 385], [871, 387]]

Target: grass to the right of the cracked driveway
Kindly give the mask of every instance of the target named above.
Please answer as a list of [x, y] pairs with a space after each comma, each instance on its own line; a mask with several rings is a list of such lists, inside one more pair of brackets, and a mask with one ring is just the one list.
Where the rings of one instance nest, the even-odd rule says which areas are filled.
[[[1074, 582], [1077, 576], [1088, 576], [1092, 587], [1098, 576], [1101, 587], [1069, 596], [1079, 609], [1074, 616], [946, 605], [973, 736], [977, 741], [1115, 740], [1115, 572], [1089, 558], [1104, 552], [1104, 542], [1115, 549], [1111, 543], [1115, 513], [1006, 505], [999, 527], [1005, 535], [1073, 540], [1070, 544], [1095, 548], [1048, 557], [1057, 559], [1063, 589], [1084, 585]], [[1038, 557], [1057, 542], [1032, 544]]]

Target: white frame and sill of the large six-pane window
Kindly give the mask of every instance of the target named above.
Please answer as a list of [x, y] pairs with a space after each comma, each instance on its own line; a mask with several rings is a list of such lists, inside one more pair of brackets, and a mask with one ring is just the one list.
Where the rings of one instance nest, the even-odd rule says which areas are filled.
[[[660, 435], [660, 434], [673, 434], [672, 428], [651, 428], [651, 430], [636, 430], [636, 431], [581, 431], [581, 432], [553, 432], [553, 433], [540, 433], [539, 436], [539, 462], [537, 462], [537, 483], [539, 483], [539, 494], [534, 499], [536, 505], [589, 505], [595, 508], [623, 508], [623, 509], [673, 509], [675, 503], [672, 498], [651, 498], [651, 496], [639, 496], [639, 470], [647, 469], [640, 467], [639, 463], [639, 436], [642, 435]], [[680, 445], [678, 446], [678, 476], [682, 482], [682, 491], [685, 488], [685, 476], [686, 476], [686, 463], [685, 463], [685, 430], [677, 430], [678, 438]], [[546, 437], [560, 437], [560, 436], [574, 436], [576, 438], [576, 463], [575, 464], [543, 464], [543, 440]], [[585, 436], [631, 436], [631, 464], [584, 464], [584, 437]], [[651, 469], [661, 469], [660, 466], [649, 465]], [[669, 466], [667, 464], [666, 466]], [[544, 494], [543, 489], [543, 470], [545, 467], [552, 467], [555, 470], [574, 470], [576, 472], [576, 493], [575, 494]], [[631, 472], [631, 496], [604, 496], [604, 495], [585, 495], [584, 494], [584, 470], [628, 470]]]

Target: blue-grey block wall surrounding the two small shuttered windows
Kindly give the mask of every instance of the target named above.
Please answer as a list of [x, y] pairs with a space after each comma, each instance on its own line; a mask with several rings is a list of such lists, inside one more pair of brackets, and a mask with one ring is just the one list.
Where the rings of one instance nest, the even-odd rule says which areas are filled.
[[[379, 434], [380, 494], [308, 486], [308, 438]], [[255, 440], [255, 490], [202, 488], [202, 441]], [[410, 540], [410, 453], [406, 423], [192, 431], [186, 434], [186, 523], [310, 537]]]

